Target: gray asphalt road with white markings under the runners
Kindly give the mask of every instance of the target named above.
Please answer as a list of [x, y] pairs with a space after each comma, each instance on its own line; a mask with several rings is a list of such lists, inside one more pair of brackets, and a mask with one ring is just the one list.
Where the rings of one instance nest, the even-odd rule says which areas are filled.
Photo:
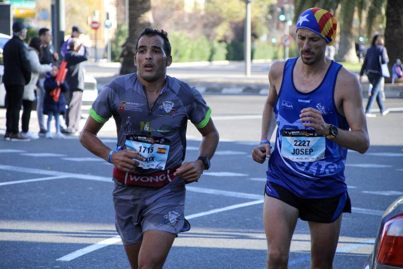
[[[260, 141], [265, 97], [205, 98], [220, 143], [211, 169], [187, 185], [191, 230], [175, 240], [164, 268], [264, 268], [267, 162], [253, 162], [251, 150]], [[347, 156], [353, 213], [343, 216], [334, 268], [362, 268], [383, 211], [403, 194], [403, 100], [387, 99], [386, 106], [391, 113], [368, 119], [368, 152]], [[32, 121], [36, 126], [34, 114]], [[114, 147], [112, 120], [100, 137]], [[189, 123], [185, 161], [197, 157], [199, 139]], [[0, 268], [129, 268], [114, 229], [112, 165], [85, 150], [77, 137], [0, 140], [0, 153]], [[289, 268], [310, 268], [309, 228], [303, 221], [295, 229]]]

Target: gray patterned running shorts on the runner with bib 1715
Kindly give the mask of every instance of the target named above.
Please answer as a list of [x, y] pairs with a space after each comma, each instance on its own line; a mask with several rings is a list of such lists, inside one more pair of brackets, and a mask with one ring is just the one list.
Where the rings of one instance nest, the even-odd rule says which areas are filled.
[[176, 177], [162, 188], [127, 187], [114, 184], [115, 226], [124, 245], [143, 238], [143, 232], [189, 231], [185, 220], [185, 181]]

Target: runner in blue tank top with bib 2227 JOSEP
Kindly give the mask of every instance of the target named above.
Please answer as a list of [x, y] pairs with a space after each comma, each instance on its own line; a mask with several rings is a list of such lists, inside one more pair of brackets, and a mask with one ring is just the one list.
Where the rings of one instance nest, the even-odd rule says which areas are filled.
[[298, 218], [309, 223], [312, 268], [332, 268], [342, 213], [351, 213], [347, 149], [364, 153], [370, 141], [357, 77], [325, 57], [336, 27], [328, 11], [306, 10], [297, 21], [300, 57], [270, 67], [262, 141], [252, 152], [258, 163], [269, 158], [264, 198], [268, 268], [287, 268]]

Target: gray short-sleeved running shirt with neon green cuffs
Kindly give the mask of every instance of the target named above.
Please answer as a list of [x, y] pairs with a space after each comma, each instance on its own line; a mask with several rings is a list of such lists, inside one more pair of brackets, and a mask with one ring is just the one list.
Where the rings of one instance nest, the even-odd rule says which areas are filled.
[[[207, 125], [210, 114], [211, 108], [196, 88], [168, 75], [165, 87], [149, 110], [143, 84], [136, 73], [108, 83], [89, 110], [89, 115], [99, 123], [105, 123], [113, 116], [118, 146], [122, 149], [126, 148], [126, 135], [129, 134], [169, 139], [165, 170], [181, 165], [185, 159], [187, 120], [200, 129]], [[135, 173], [156, 171], [160, 170], [137, 167]]]

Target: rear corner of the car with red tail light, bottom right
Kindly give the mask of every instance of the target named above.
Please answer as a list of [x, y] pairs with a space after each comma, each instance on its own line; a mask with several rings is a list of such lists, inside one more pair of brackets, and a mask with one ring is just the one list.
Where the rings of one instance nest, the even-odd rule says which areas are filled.
[[364, 269], [397, 268], [403, 268], [403, 196], [383, 214], [374, 250], [364, 265]]

